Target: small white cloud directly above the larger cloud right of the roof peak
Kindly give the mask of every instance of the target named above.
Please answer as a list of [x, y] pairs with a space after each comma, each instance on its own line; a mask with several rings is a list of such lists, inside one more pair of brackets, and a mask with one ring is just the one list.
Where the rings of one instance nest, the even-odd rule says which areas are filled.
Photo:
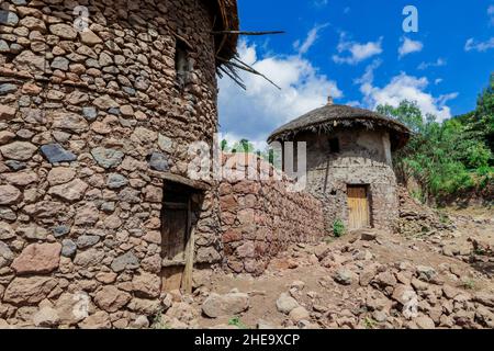
[[[333, 60], [336, 64], [349, 64], [349, 65], [356, 65], [358, 63], [361, 63], [372, 56], [382, 53], [382, 39], [383, 37], [381, 36], [377, 42], [368, 42], [361, 44], [349, 41], [347, 38], [346, 33], [341, 33], [337, 46], [339, 55], [334, 55]], [[349, 56], [341, 55], [345, 53], [348, 53]]]

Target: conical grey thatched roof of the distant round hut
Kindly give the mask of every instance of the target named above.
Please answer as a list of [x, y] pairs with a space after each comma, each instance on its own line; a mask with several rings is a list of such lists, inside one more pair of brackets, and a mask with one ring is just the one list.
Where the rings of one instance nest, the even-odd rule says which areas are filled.
[[347, 105], [327, 104], [278, 128], [269, 136], [268, 143], [293, 140], [301, 132], [325, 134], [336, 128], [351, 127], [388, 129], [393, 149], [405, 146], [412, 133], [402, 123], [379, 113]]

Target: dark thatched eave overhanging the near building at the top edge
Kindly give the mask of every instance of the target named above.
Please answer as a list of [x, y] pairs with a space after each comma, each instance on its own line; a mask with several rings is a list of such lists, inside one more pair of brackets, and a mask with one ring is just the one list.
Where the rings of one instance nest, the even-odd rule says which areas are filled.
[[[238, 34], [224, 33], [237, 32], [240, 26], [238, 20], [238, 8], [236, 0], [205, 0], [212, 3], [214, 11], [214, 31], [222, 32], [215, 34], [216, 56], [231, 59], [237, 52]], [[222, 65], [223, 61], [217, 61]]]

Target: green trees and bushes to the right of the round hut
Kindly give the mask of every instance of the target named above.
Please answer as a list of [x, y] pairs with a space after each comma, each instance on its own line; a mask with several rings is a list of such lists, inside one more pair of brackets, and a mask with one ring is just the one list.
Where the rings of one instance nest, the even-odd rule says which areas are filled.
[[420, 185], [417, 197], [429, 200], [493, 184], [494, 75], [474, 112], [439, 123], [422, 113], [417, 103], [378, 106], [413, 131], [408, 145], [396, 152], [396, 173]]

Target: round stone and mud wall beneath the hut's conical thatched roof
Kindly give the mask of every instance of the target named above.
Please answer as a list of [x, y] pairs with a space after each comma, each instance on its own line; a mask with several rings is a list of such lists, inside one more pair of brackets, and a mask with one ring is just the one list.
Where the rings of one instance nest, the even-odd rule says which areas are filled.
[[[339, 152], [330, 152], [329, 138], [338, 138]], [[307, 143], [307, 191], [323, 202], [327, 230], [333, 230], [336, 219], [348, 223], [347, 186], [360, 184], [368, 185], [372, 226], [394, 227], [398, 201], [386, 131], [303, 133], [296, 141]]]

